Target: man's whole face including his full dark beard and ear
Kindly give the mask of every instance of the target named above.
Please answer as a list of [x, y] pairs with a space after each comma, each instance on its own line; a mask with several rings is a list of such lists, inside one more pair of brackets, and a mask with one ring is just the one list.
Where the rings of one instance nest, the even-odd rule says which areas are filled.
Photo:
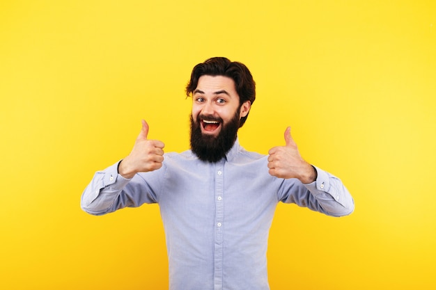
[[235, 143], [240, 118], [249, 109], [249, 101], [240, 105], [233, 79], [201, 76], [192, 95], [192, 151], [203, 161], [219, 161]]

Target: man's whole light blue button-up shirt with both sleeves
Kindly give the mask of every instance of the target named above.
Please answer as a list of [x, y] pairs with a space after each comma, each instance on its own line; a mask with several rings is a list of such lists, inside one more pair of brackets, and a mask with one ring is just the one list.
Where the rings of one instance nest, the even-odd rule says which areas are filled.
[[354, 202], [342, 182], [316, 168], [311, 184], [268, 173], [267, 156], [238, 143], [217, 163], [190, 150], [166, 153], [162, 168], [118, 175], [118, 163], [95, 173], [81, 198], [89, 214], [159, 204], [171, 290], [270, 289], [267, 240], [278, 202], [345, 216]]

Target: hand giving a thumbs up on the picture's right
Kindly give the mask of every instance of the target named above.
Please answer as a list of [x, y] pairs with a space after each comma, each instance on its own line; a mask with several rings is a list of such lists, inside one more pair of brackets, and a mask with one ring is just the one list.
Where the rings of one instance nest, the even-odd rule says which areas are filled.
[[285, 131], [285, 143], [285, 146], [273, 147], [268, 152], [270, 175], [286, 179], [297, 178], [304, 184], [314, 182], [316, 170], [299, 154], [297, 144], [290, 136], [290, 127]]

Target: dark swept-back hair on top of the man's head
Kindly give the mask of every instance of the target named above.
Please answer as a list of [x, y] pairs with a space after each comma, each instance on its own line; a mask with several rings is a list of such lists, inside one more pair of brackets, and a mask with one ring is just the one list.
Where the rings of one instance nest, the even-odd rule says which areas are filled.
[[[235, 89], [238, 92], [240, 99], [240, 106], [247, 101], [251, 104], [256, 99], [256, 83], [249, 69], [237, 61], [231, 62], [228, 58], [215, 57], [209, 58], [204, 63], [198, 63], [191, 73], [191, 79], [186, 86], [186, 95], [189, 97], [198, 85], [198, 79], [203, 75], [210, 76], [228, 76], [235, 82]], [[248, 114], [240, 120], [240, 126], [247, 120]]]

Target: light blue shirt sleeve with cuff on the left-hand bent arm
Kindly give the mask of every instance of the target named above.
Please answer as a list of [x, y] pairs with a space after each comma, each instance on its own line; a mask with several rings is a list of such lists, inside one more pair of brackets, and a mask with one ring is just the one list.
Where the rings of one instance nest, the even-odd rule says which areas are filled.
[[124, 207], [139, 207], [157, 202], [155, 190], [143, 177], [126, 179], [118, 174], [118, 161], [105, 170], [95, 172], [81, 195], [81, 209], [100, 216]]

